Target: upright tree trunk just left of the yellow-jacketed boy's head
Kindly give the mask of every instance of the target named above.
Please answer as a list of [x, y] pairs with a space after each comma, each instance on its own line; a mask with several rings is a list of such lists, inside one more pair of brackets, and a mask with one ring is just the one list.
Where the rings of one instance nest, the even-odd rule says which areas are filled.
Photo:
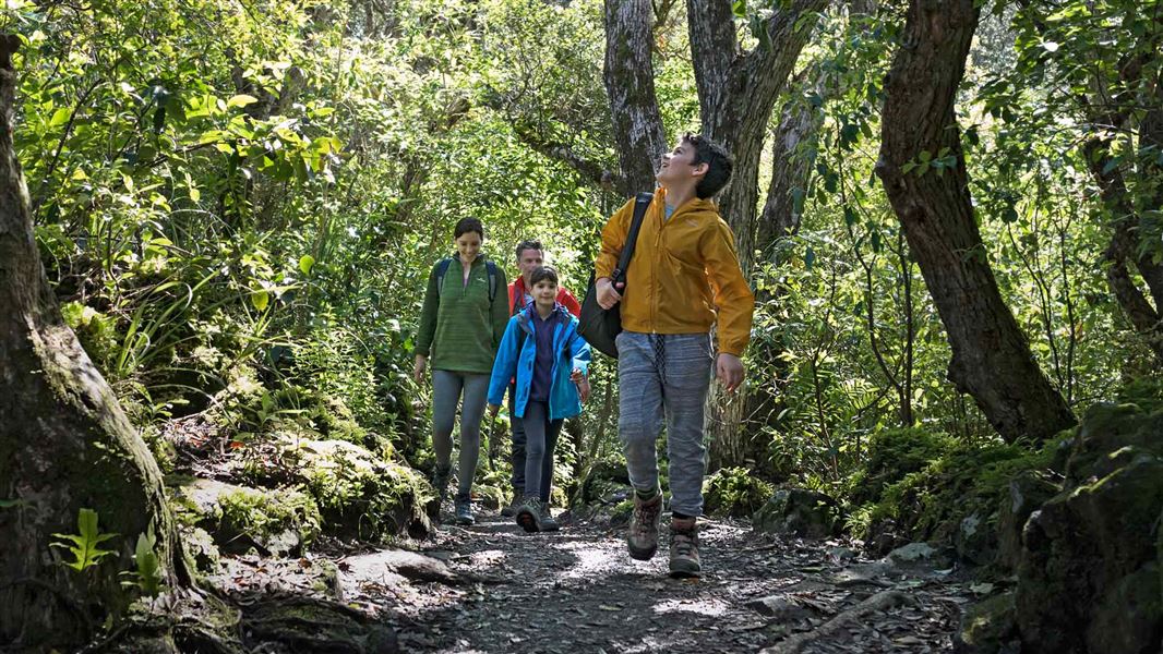
[[604, 78], [622, 171], [618, 191], [630, 197], [654, 191], [655, 166], [666, 151], [650, 58], [654, 9], [649, 0], [606, 0], [605, 15]]

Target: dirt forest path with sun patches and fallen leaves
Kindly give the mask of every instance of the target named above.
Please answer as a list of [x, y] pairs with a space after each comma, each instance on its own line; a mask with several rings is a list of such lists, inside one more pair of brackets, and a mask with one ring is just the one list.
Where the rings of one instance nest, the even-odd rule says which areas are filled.
[[402, 652], [438, 653], [948, 652], [971, 598], [956, 573], [756, 534], [745, 522], [702, 523], [704, 578], [672, 580], [665, 540], [638, 562], [625, 533], [566, 523], [527, 534], [485, 513], [442, 526], [420, 544], [424, 556], [349, 556], [341, 578], [393, 616]]

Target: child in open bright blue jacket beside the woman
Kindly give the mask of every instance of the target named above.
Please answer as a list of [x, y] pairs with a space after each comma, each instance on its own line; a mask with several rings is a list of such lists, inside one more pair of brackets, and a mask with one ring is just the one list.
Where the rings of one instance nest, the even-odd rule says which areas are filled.
[[528, 532], [556, 531], [547, 504], [554, 447], [562, 423], [580, 414], [590, 395], [590, 344], [578, 333], [578, 319], [557, 303], [557, 272], [540, 267], [529, 280], [533, 302], [509, 318], [493, 360], [488, 411], [497, 415], [515, 376], [515, 416], [511, 418], [522, 421], [526, 432], [526, 488], [516, 524]]

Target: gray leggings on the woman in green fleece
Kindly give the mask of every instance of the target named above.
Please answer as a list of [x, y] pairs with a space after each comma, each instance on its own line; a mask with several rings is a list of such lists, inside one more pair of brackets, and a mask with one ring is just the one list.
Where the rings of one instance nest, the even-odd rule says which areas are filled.
[[456, 501], [468, 502], [472, 496], [472, 477], [477, 474], [480, 454], [480, 418], [488, 400], [488, 375], [433, 371], [433, 450], [436, 467], [448, 469], [452, 459], [452, 424], [456, 422], [456, 402], [464, 390], [461, 404], [461, 466], [457, 472], [459, 488]]

